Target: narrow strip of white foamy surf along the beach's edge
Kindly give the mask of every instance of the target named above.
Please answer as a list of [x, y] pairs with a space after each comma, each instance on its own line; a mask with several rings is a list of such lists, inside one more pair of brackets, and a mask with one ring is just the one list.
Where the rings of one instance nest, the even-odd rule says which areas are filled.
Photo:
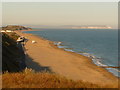
[[[22, 30], [23, 33], [26, 33], [26, 32], [24, 32], [24, 31], [28, 31], [28, 32], [29, 32], [29, 31], [41, 31], [41, 30], [34, 30], [34, 29], [32, 29], [32, 30]], [[27, 34], [32, 34], [32, 33], [27, 33]], [[33, 35], [34, 35], [34, 34], [33, 34]], [[40, 37], [40, 38], [43, 39], [43, 40], [48, 40], [48, 41], [50, 41], [50, 42], [51, 42], [51, 45], [52, 45], [54, 48], [62, 49], [62, 50], [64, 50], [64, 51], [66, 51], [66, 52], [72, 52], [72, 53], [76, 53], [76, 54], [80, 54], [80, 55], [82, 55], [82, 56], [88, 57], [90, 60], [92, 60], [92, 63], [95, 64], [96, 66], [101, 67], [101, 68], [104, 68], [105, 70], [107, 70], [108, 72], [110, 72], [110, 73], [112, 73], [114, 76], [116, 76], [117, 78], [120, 78], [119, 75], [117, 75], [116, 73], [114, 73], [113, 71], [111, 71], [111, 69], [120, 68], [119, 66], [118, 66], [118, 67], [117, 67], [117, 66], [108, 66], [108, 65], [103, 64], [103, 63], [99, 62], [98, 60], [96, 60], [96, 59], [99, 59], [99, 57], [94, 56], [94, 55], [92, 55], [92, 54], [90, 54], [90, 53], [86, 53], [86, 52], [76, 52], [76, 51], [73, 51], [73, 50], [72, 50], [73, 48], [65, 48], [64, 45], [61, 45], [62, 42], [51, 41], [51, 40], [49, 40], [49, 39], [47, 39], [47, 38], [44, 38], [44, 37], [41, 37], [41, 36], [37, 36], [37, 35], [35, 35], [35, 36], [36, 36], [36, 37]], [[109, 70], [109, 69], [110, 69], [110, 70]], [[117, 71], [116, 71], [116, 72], [117, 72]]]

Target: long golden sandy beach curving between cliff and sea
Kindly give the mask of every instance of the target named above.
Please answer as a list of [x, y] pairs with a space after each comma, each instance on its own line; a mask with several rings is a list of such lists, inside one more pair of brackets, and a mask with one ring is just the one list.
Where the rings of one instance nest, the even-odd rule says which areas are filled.
[[[32, 34], [15, 31], [28, 39], [25, 45], [28, 68], [35, 71], [46, 70], [73, 80], [83, 80], [96, 84], [117, 86], [118, 78], [104, 68], [92, 63], [88, 57], [64, 51], [53, 45], [52, 41]], [[32, 44], [32, 40], [36, 43]]]

